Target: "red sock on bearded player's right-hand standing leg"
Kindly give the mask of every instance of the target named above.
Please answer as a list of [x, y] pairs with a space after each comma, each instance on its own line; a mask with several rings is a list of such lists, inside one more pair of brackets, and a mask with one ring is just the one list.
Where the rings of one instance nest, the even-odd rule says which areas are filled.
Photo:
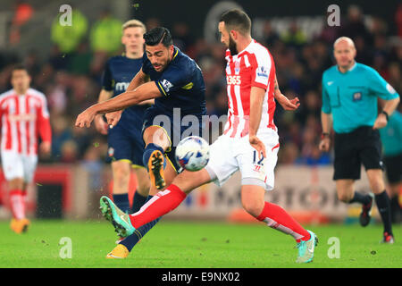
[[263, 212], [256, 219], [265, 222], [273, 229], [290, 234], [297, 242], [300, 242], [300, 240], [310, 240], [310, 233], [297, 223], [281, 206], [265, 202]]

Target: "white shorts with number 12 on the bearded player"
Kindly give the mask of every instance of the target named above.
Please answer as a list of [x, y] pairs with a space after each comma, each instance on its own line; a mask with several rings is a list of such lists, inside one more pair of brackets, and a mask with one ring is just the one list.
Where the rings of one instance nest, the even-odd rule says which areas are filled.
[[265, 144], [266, 158], [260, 160], [257, 151], [248, 141], [248, 136], [233, 139], [222, 135], [209, 149], [210, 159], [206, 171], [216, 175], [218, 186], [240, 170], [242, 185], [259, 185], [266, 190], [273, 189], [274, 173], [278, 161], [279, 136], [274, 130], [258, 133], [257, 137]]

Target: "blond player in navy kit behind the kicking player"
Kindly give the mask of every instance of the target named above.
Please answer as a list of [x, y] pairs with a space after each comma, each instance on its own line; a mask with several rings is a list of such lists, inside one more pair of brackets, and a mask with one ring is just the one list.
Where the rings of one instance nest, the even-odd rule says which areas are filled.
[[[129, 87], [143, 63], [145, 32], [145, 25], [138, 20], [130, 20], [122, 25], [121, 43], [125, 46], [125, 54], [113, 56], [107, 61], [98, 102], [116, 97]], [[142, 163], [145, 146], [141, 136], [142, 120], [148, 107], [143, 104], [125, 109], [113, 129], [109, 128], [102, 115], [95, 118], [96, 130], [108, 135], [108, 156], [113, 170], [113, 201], [126, 213], [137, 212], [149, 192], [149, 177]], [[131, 166], [135, 168], [138, 178], [132, 210], [128, 194]]]

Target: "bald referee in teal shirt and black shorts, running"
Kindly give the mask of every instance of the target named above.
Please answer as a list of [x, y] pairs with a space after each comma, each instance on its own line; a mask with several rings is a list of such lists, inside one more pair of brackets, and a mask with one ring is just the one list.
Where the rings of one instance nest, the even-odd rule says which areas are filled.
[[[360, 224], [370, 223], [373, 197], [355, 191], [361, 164], [367, 173], [384, 224], [382, 242], [393, 243], [389, 197], [382, 178], [381, 140], [379, 129], [399, 103], [398, 93], [379, 73], [356, 63], [352, 39], [338, 38], [334, 45], [336, 65], [322, 74], [322, 140], [320, 149], [330, 150], [333, 120], [334, 175], [339, 200], [363, 205]], [[380, 114], [377, 97], [385, 100]], [[332, 119], [333, 117], [333, 119]]]

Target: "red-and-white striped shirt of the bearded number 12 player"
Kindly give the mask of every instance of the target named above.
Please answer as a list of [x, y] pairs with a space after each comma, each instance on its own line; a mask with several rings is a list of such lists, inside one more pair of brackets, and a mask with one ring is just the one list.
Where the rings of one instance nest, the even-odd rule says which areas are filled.
[[224, 134], [241, 138], [248, 134], [250, 115], [250, 92], [252, 87], [264, 88], [265, 97], [260, 130], [277, 130], [273, 123], [275, 100], [273, 88], [275, 64], [268, 49], [254, 39], [238, 55], [226, 51], [226, 81], [228, 93], [228, 122]]

